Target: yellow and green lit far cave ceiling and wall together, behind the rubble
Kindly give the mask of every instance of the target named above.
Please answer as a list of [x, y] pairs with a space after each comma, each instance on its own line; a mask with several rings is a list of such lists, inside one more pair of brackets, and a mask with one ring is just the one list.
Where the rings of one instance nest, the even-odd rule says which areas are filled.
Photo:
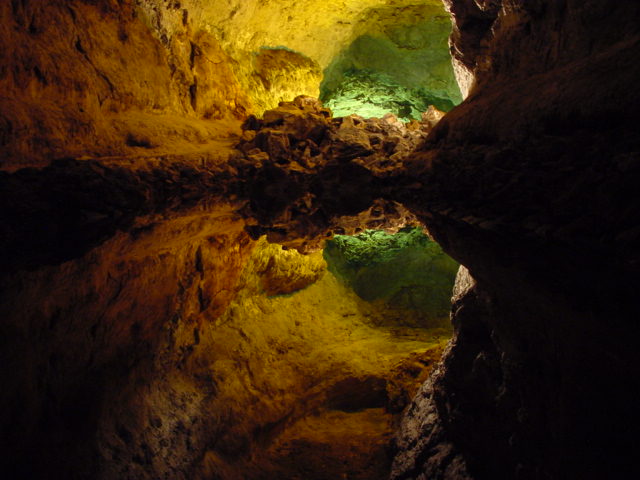
[[[185, 29], [215, 38], [233, 59], [255, 113], [298, 94], [320, 97], [321, 90], [340, 115], [382, 116], [404, 106], [400, 116], [419, 119], [430, 103], [449, 110], [460, 101], [447, 45], [451, 24], [439, 0], [139, 5], [151, 30], [168, 43], [179, 42]], [[364, 73], [364, 82], [338, 91], [345, 73], [354, 71]], [[363, 95], [368, 98], [353, 100]], [[366, 108], [376, 103], [383, 105]]]

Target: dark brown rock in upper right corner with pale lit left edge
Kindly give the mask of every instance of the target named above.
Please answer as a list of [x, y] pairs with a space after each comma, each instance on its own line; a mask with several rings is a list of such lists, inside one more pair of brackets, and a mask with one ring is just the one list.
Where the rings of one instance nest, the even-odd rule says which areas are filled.
[[451, 52], [458, 82], [466, 94], [476, 83], [487, 86], [523, 79], [587, 59], [619, 42], [633, 41], [637, 33], [637, 6], [619, 2], [443, 3], [452, 14]]

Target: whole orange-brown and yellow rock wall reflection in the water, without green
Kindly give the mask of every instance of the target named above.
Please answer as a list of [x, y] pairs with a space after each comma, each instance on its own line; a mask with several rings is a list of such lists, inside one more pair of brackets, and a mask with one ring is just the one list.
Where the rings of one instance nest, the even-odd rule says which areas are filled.
[[2, 276], [5, 476], [294, 478], [328, 458], [338, 478], [344, 460], [386, 477], [391, 421], [443, 332], [373, 327], [319, 253], [243, 227], [222, 204], [165, 212]]

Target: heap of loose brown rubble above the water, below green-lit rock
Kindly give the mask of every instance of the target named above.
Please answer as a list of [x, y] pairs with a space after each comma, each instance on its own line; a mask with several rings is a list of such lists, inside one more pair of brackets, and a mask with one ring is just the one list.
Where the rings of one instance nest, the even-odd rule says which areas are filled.
[[431, 106], [424, 122], [404, 124], [392, 113], [383, 118], [333, 118], [319, 100], [299, 96], [280, 102], [262, 119], [250, 116], [238, 148], [255, 168], [270, 164], [317, 173], [330, 164], [352, 162], [379, 174], [397, 168], [442, 115]]

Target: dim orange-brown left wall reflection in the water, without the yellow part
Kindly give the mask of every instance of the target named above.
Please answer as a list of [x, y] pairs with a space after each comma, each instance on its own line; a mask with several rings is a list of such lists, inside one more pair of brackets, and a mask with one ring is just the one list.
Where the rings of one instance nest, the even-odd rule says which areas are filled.
[[86, 255], [3, 275], [5, 475], [175, 478], [192, 468], [215, 432], [199, 411], [212, 386], [183, 366], [252, 248], [219, 205], [142, 217]]

